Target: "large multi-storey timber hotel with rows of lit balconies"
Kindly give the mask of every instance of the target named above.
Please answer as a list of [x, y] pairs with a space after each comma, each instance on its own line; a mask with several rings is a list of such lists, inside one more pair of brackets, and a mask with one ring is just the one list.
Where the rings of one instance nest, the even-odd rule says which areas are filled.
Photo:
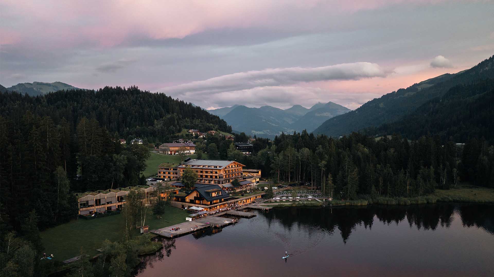
[[198, 175], [197, 183], [226, 184], [235, 178], [242, 178], [245, 166], [236, 161], [189, 160], [181, 165], [161, 164], [158, 167], [159, 178], [180, 179], [184, 170], [190, 168]]

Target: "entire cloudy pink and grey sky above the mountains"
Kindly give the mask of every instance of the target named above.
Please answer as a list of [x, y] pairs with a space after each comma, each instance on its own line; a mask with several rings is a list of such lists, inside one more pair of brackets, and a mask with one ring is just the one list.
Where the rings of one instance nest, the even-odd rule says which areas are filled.
[[493, 15], [489, 0], [0, 0], [0, 84], [355, 109], [492, 56]]

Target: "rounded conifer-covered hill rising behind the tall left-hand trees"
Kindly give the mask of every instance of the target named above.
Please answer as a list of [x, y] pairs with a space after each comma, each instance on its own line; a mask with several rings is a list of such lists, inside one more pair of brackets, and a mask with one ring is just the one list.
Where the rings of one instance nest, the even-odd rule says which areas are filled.
[[33, 115], [51, 117], [55, 124], [65, 118], [72, 129], [82, 117], [93, 118], [112, 135], [117, 132], [120, 138], [168, 141], [182, 128], [232, 132], [224, 120], [198, 106], [136, 86], [57, 91], [36, 97], [2, 92], [0, 105], [4, 117], [19, 118], [30, 110]]

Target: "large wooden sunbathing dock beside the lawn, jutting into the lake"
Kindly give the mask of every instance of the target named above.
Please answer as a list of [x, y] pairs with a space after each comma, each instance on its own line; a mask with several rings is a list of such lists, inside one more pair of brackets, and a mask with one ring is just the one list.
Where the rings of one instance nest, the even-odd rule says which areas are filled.
[[[187, 235], [211, 227], [216, 227], [216, 228], [223, 227], [232, 224], [233, 222], [234, 220], [231, 218], [210, 215], [192, 221], [185, 221], [165, 228], [151, 230], [149, 232], [165, 238], [177, 238], [183, 235]], [[170, 231], [171, 229], [177, 227], [180, 228], [180, 230]]]

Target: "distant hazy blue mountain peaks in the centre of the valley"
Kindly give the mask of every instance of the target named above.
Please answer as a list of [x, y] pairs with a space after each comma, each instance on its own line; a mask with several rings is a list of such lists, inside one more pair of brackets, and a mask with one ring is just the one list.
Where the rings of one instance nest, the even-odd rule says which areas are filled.
[[209, 110], [210, 113], [225, 120], [235, 131], [267, 138], [273, 138], [282, 132], [293, 133], [303, 130], [312, 132], [327, 119], [349, 111], [350, 109], [332, 102], [317, 103], [311, 108], [301, 105], [294, 105], [288, 109], [233, 105]]

